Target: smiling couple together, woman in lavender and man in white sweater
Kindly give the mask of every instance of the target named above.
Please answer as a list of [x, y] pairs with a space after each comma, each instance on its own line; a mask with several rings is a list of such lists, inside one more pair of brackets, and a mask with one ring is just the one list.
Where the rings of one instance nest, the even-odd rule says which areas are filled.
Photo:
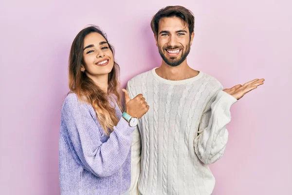
[[162, 64], [128, 81], [121, 105], [119, 65], [97, 27], [81, 30], [69, 60], [61, 113], [62, 195], [210, 195], [208, 164], [224, 153], [230, 107], [264, 79], [224, 89], [190, 68], [194, 16], [168, 6], [151, 21]]

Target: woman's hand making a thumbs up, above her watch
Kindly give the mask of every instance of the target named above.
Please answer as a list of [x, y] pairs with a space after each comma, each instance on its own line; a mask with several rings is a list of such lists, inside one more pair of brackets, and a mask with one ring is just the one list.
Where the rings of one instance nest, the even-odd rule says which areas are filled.
[[125, 93], [126, 100], [126, 112], [131, 117], [141, 118], [149, 110], [146, 99], [143, 97], [143, 94], [138, 94], [135, 98], [131, 99], [129, 93], [126, 89], [123, 89]]

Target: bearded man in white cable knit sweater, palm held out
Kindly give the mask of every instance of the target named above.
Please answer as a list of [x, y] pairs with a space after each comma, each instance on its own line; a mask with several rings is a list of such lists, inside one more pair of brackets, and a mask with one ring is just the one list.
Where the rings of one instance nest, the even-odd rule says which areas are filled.
[[133, 133], [130, 194], [210, 195], [215, 178], [208, 164], [224, 153], [230, 107], [264, 79], [223, 90], [190, 68], [194, 16], [182, 6], [159, 10], [151, 28], [162, 64], [132, 78], [126, 92], [128, 99], [143, 94], [150, 107]]

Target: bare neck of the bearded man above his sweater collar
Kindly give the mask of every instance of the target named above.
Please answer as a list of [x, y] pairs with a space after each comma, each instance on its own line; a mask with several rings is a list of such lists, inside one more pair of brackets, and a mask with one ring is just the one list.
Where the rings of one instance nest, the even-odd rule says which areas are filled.
[[167, 65], [164, 61], [161, 66], [155, 70], [159, 77], [167, 80], [184, 80], [196, 77], [199, 72], [189, 67], [186, 60], [178, 66]]

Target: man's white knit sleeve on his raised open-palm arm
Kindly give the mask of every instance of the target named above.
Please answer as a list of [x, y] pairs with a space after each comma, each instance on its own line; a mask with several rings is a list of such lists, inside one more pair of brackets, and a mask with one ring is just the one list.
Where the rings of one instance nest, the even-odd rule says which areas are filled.
[[228, 140], [226, 125], [231, 120], [230, 107], [237, 99], [219, 91], [204, 110], [198, 136], [194, 140], [195, 152], [205, 164], [219, 160], [224, 154]]

